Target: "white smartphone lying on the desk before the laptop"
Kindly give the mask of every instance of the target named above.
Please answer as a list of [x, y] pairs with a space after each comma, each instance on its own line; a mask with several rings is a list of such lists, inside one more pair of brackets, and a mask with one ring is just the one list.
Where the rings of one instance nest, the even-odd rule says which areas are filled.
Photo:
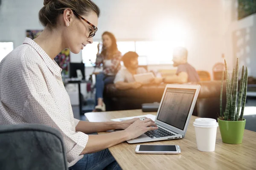
[[138, 144], [136, 153], [147, 153], [147, 154], [179, 154], [179, 145], [144, 145]]

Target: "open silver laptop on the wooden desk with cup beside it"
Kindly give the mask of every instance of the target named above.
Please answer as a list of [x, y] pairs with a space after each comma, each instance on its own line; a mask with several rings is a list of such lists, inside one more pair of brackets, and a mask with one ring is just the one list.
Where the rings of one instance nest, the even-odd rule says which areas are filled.
[[200, 85], [166, 85], [154, 120], [159, 128], [127, 142], [139, 143], [184, 138], [200, 87]]

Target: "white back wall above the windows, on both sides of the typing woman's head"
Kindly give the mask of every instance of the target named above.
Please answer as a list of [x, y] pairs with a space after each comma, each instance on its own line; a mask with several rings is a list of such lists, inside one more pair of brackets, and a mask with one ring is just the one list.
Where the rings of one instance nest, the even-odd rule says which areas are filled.
[[[102, 14], [95, 40], [111, 31], [117, 40], [173, 40], [180, 37], [188, 48], [188, 61], [198, 70], [212, 73], [222, 61], [223, 16], [221, 0], [94, 0]], [[42, 29], [38, 11], [43, 0], [3, 0], [0, 10], [0, 41], [22, 44], [26, 29]], [[176, 37], [175, 37], [176, 36]], [[171, 55], [171, 54], [169, 54]], [[167, 55], [168, 56], [168, 55]], [[71, 54], [80, 62], [81, 54]]]

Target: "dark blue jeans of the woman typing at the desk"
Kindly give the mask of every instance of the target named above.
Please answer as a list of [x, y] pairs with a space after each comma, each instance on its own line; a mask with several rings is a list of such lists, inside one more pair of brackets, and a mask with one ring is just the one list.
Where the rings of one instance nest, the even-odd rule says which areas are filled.
[[85, 154], [69, 170], [122, 170], [108, 149], [97, 153]]

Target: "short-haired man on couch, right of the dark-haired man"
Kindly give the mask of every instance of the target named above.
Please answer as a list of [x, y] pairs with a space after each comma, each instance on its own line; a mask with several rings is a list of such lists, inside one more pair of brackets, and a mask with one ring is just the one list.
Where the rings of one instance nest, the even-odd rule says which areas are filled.
[[177, 47], [173, 51], [173, 66], [177, 67], [176, 75], [163, 79], [165, 83], [197, 84], [200, 79], [195, 68], [187, 62], [188, 51], [184, 47]]

